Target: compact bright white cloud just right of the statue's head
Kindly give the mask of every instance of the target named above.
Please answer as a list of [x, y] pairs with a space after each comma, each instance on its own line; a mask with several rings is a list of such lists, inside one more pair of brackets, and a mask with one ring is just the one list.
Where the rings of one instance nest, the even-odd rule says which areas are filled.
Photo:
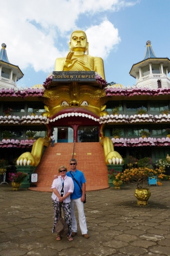
[[99, 26], [92, 26], [86, 30], [89, 42], [90, 55], [106, 59], [113, 47], [120, 43], [117, 28], [108, 20]]

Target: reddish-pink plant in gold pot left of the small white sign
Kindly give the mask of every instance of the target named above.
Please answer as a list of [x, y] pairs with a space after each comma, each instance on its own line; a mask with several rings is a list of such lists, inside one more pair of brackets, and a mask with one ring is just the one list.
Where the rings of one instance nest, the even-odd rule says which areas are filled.
[[15, 174], [12, 172], [9, 172], [9, 180], [11, 181], [13, 190], [18, 190], [22, 182], [24, 181], [25, 177], [27, 177], [28, 174], [25, 172], [16, 172]]

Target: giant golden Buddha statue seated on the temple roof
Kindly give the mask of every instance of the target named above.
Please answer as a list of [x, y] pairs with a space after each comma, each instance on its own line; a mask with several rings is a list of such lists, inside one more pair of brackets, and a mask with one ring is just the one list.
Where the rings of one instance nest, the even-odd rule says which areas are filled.
[[55, 71], [95, 71], [105, 80], [103, 59], [88, 55], [87, 36], [82, 30], [71, 34], [69, 53], [56, 59]]

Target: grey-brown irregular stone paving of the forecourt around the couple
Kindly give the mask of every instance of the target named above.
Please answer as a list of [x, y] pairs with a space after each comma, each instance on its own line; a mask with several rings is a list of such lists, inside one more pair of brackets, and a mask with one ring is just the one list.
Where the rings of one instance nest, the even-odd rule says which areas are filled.
[[[69, 242], [52, 234], [51, 193], [0, 186], [0, 256], [170, 256], [170, 181], [150, 187], [137, 206], [135, 187], [87, 192], [88, 233]], [[77, 213], [76, 213], [77, 214]]]

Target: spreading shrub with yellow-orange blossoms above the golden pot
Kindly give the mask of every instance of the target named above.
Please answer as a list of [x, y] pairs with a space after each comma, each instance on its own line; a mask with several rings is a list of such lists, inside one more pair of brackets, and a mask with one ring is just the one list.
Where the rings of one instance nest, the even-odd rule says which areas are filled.
[[[147, 167], [126, 169], [124, 172], [117, 174], [116, 179], [121, 179], [124, 183], [137, 185], [137, 188], [145, 188], [148, 182], [148, 177], [158, 177], [158, 179], [170, 179], [169, 176], [163, 174], [160, 169], [149, 169]], [[158, 185], [162, 183], [158, 182]]]

